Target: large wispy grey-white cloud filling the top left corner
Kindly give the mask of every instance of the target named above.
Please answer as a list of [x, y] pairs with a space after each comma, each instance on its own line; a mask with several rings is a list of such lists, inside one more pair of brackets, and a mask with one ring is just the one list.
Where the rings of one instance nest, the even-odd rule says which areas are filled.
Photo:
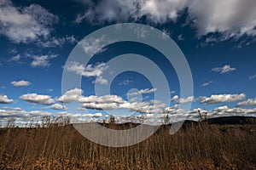
[[0, 3], [0, 34], [12, 42], [33, 42], [49, 37], [57, 17], [37, 4], [15, 7], [10, 1]]

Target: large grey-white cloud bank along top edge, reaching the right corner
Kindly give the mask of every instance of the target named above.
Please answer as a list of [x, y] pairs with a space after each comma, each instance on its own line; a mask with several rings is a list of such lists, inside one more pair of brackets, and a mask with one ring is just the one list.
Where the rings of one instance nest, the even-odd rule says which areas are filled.
[[214, 41], [256, 35], [256, 3], [253, 0], [102, 0], [79, 2], [84, 4], [84, 14], [79, 14], [76, 22], [91, 23], [127, 22], [140, 20], [143, 16], [154, 24], [176, 21], [184, 9], [188, 9], [191, 25], [198, 36], [221, 33]]

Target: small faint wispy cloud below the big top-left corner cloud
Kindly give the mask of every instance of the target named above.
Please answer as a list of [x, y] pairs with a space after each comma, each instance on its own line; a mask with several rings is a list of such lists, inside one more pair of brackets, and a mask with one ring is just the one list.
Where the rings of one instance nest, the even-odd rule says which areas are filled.
[[54, 59], [57, 57], [56, 54], [32, 56], [32, 67], [49, 67], [49, 59]]

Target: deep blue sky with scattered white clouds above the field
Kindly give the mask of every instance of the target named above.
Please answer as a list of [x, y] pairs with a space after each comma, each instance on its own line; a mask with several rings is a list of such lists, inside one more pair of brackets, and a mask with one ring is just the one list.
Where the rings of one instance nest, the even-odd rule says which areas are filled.
[[[170, 114], [198, 120], [198, 111], [210, 117], [256, 116], [255, 8], [254, 0], [0, 0], [1, 124], [42, 116], [86, 122], [137, 116], [147, 122]], [[189, 65], [190, 95], [182, 95], [175, 65], [158, 49], [111, 42], [108, 32], [84, 41], [124, 23], [151, 26], [172, 38]], [[96, 50], [102, 42], [108, 45]], [[70, 59], [79, 45], [93, 54], [87, 63]], [[120, 63], [114, 65], [114, 59]], [[123, 71], [115, 75], [117, 66]], [[78, 87], [63, 88], [65, 71], [69, 85], [81, 78]], [[168, 88], [161, 88], [165, 81], [158, 71]], [[186, 104], [191, 107], [184, 110]]]

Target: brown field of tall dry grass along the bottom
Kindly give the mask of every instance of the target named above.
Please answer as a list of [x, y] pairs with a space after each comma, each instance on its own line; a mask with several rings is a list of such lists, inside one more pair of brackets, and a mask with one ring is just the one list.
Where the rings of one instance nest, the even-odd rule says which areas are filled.
[[255, 118], [185, 122], [173, 135], [169, 129], [163, 125], [139, 144], [111, 148], [58, 122], [2, 128], [0, 169], [256, 169]]

